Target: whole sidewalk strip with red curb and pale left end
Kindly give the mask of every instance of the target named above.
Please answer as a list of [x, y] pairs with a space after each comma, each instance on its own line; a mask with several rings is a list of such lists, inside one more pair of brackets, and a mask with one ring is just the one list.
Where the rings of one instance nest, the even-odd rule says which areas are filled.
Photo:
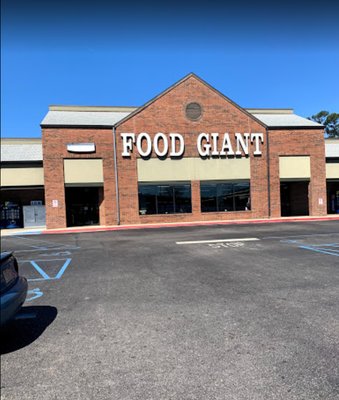
[[159, 228], [177, 228], [190, 226], [211, 226], [211, 225], [245, 225], [245, 224], [272, 224], [286, 222], [307, 222], [307, 221], [339, 221], [339, 214], [326, 216], [306, 216], [306, 217], [281, 217], [266, 219], [242, 219], [236, 221], [196, 221], [196, 222], [175, 222], [161, 224], [139, 224], [139, 225], [91, 225], [77, 226], [72, 228], [46, 229], [45, 226], [36, 228], [21, 229], [2, 229], [1, 237], [16, 235], [41, 235], [41, 234], [65, 234], [65, 233], [86, 233], [86, 232], [105, 232], [129, 229], [159, 229]]

